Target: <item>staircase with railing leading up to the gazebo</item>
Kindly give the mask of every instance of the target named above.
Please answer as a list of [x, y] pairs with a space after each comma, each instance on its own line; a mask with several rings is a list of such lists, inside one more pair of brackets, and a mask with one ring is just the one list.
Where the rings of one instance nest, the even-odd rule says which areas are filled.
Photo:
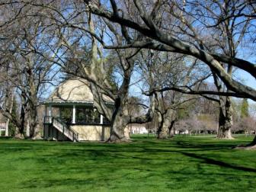
[[62, 133], [64, 136], [72, 140], [73, 142], [78, 142], [78, 132], [70, 128], [66, 125], [60, 118], [57, 117], [50, 117], [46, 116], [44, 117], [44, 124], [50, 125], [56, 130], [58, 130], [60, 133]]

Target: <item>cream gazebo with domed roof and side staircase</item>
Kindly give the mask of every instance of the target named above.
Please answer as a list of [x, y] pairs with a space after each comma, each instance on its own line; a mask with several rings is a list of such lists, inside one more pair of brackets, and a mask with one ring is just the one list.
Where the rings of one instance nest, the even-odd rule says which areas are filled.
[[[107, 96], [104, 101], [113, 106]], [[44, 139], [106, 140], [110, 136], [110, 123], [94, 107], [94, 96], [82, 78], [63, 82], [43, 104]]]

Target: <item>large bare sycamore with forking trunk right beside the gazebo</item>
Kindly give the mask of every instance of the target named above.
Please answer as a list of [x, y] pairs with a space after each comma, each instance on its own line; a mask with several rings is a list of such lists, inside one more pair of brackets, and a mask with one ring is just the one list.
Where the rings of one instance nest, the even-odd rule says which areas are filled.
[[[13, 2], [14, 4], [16, 2]], [[130, 34], [127, 27], [102, 20], [87, 11], [87, 4], [70, 2], [18, 2], [20, 6], [30, 5], [32, 13], [27, 18], [46, 18], [47, 30], [52, 41], [46, 45], [52, 54], [34, 50], [34, 53], [55, 63], [69, 75], [85, 78], [94, 95], [94, 106], [110, 121], [110, 142], [126, 141], [125, 127], [129, 123], [146, 123], [152, 119], [154, 95], [149, 97], [148, 112], [138, 117], [128, 113], [131, 78], [136, 58], [141, 49], [103, 48], [104, 41], [123, 46], [141, 39], [139, 33]], [[33, 8], [37, 12], [33, 12]], [[132, 9], [130, 9], [132, 11]], [[117, 75], [117, 78], [111, 76]], [[109, 99], [114, 105], [110, 106]]]

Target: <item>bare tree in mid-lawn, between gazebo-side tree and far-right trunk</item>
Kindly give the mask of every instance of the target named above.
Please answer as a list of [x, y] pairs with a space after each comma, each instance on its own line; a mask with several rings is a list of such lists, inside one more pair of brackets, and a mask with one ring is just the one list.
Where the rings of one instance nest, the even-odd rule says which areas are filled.
[[[144, 81], [148, 85], [148, 88], [144, 88], [142, 92], [146, 95], [155, 94], [158, 139], [166, 139], [170, 136], [177, 119], [177, 109], [185, 102], [200, 97], [184, 95], [179, 90], [197, 89], [210, 73], [200, 67], [197, 60], [191, 60], [180, 54], [144, 51], [139, 60], [142, 76], [145, 77]], [[169, 89], [162, 91], [165, 87]]]

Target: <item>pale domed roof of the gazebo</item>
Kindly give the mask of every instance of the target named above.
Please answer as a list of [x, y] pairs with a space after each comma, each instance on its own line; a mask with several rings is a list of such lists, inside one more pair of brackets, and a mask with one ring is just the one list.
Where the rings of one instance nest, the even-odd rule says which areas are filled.
[[[94, 95], [83, 78], [69, 79], [62, 82], [43, 104], [89, 104], [94, 103]], [[114, 102], [104, 95], [107, 104]]]

